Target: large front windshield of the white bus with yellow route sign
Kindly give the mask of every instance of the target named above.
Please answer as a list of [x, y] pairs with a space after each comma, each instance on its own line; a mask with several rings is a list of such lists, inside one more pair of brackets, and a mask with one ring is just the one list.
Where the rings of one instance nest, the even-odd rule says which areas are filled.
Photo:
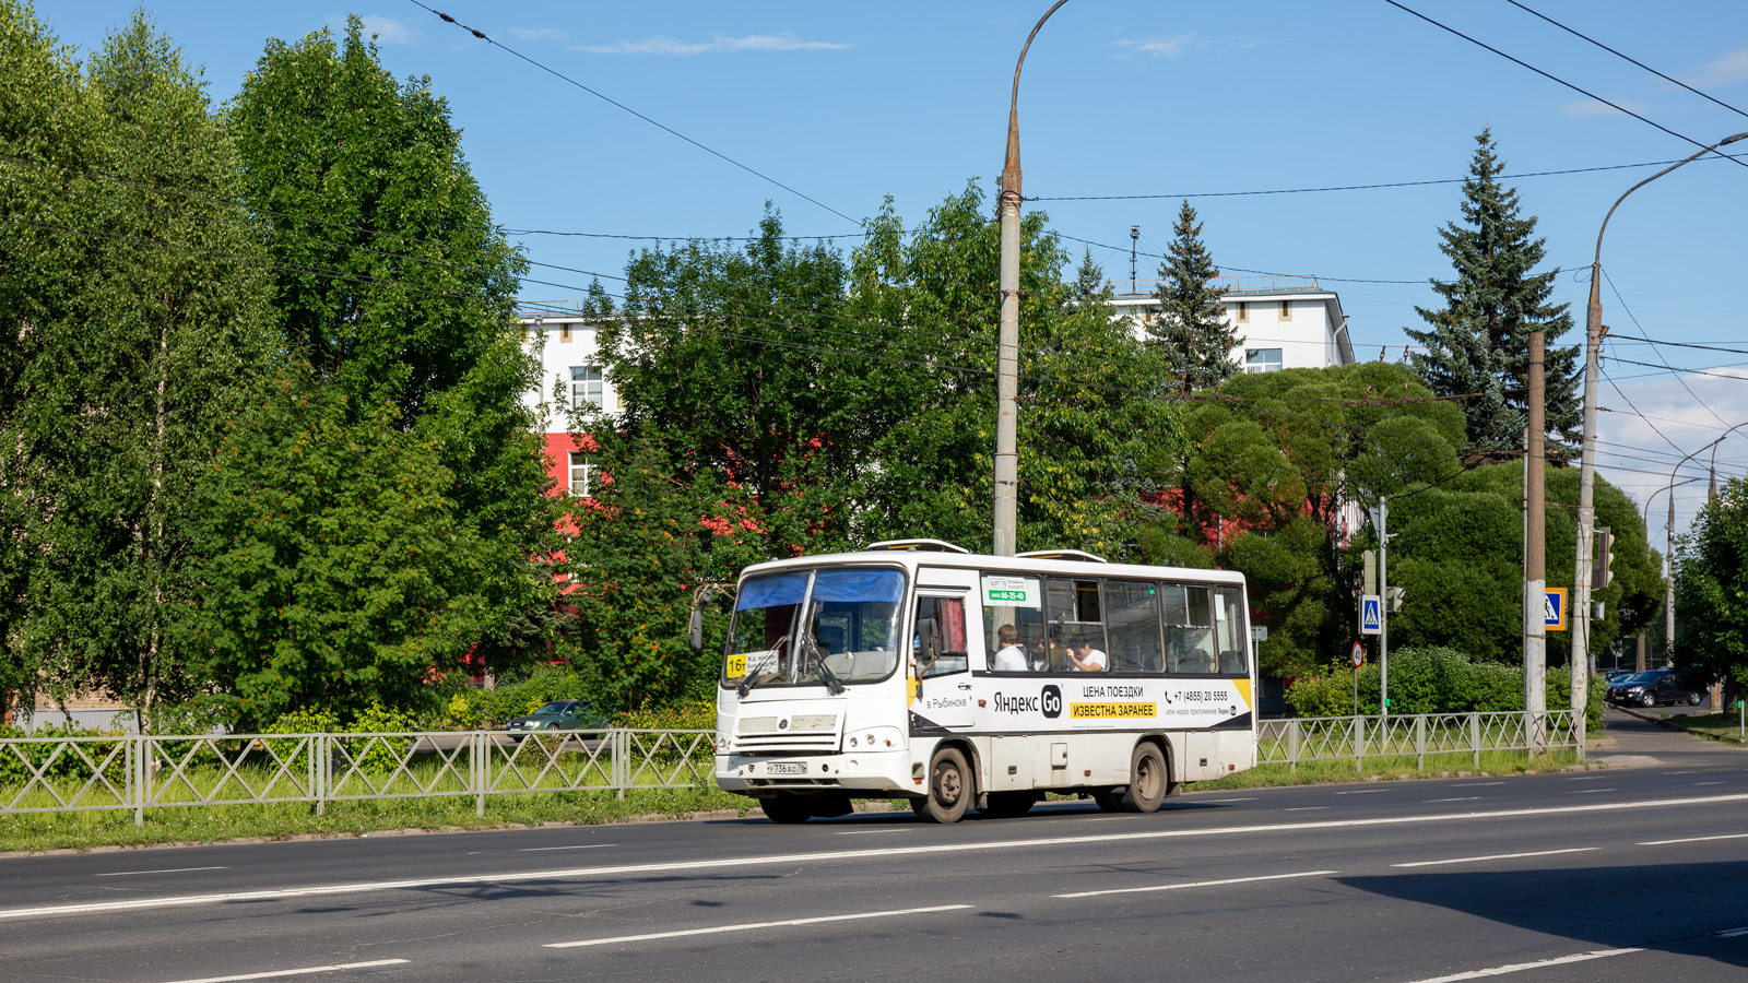
[[877, 682], [898, 665], [904, 574], [778, 570], [748, 577], [734, 602], [722, 686]]

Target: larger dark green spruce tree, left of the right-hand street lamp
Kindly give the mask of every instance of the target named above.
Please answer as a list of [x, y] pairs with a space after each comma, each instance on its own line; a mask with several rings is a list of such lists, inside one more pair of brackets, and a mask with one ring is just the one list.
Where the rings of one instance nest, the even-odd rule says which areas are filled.
[[1463, 182], [1463, 220], [1439, 229], [1439, 248], [1451, 257], [1456, 278], [1432, 282], [1442, 308], [1414, 308], [1432, 327], [1404, 329], [1425, 346], [1425, 353], [1409, 353], [1409, 364], [1428, 388], [1467, 397], [1468, 450], [1481, 457], [1523, 448], [1530, 334], [1538, 327], [1547, 336], [1549, 436], [1561, 441], [1580, 425], [1578, 346], [1554, 346], [1571, 329], [1566, 304], [1549, 303], [1559, 269], [1533, 273], [1547, 255], [1547, 240], [1533, 238], [1536, 219], [1521, 215], [1517, 191], [1498, 182], [1503, 170], [1493, 133], [1482, 129]]

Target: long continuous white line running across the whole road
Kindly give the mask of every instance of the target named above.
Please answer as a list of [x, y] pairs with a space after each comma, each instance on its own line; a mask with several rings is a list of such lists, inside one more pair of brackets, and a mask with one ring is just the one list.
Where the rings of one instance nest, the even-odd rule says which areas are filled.
[[1103, 833], [1086, 836], [1038, 836], [1030, 840], [989, 840], [982, 843], [932, 843], [916, 847], [879, 847], [869, 850], [832, 850], [816, 854], [773, 854], [759, 857], [711, 857], [669, 861], [661, 864], [621, 864], [610, 868], [559, 868], [551, 871], [507, 871], [496, 875], [430, 876], [409, 880], [379, 880], [353, 883], [323, 883], [309, 887], [238, 890], [224, 894], [184, 894], [170, 897], [136, 897], [128, 901], [93, 901], [82, 904], [49, 904], [38, 908], [0, 908], [0, 920], [37, 918], [45, 915], [87, 915], [93, 911], [138, 911], [152, 908], [182, 908], [189, 904], [224, 904], [229, 901], [281, 901], [290, 897], [316, 897], [332, 894], [367, 894], [381, 890], [416, 890], [423, 887], [465, 887], [472, 883], [517, 883], [530, 880], [587, 880], [628, 875], [654, 875], [666, 871], [706, 871], [727, 868], [787, 868], [794, 864], [820, 864], [830, 861], [891, 861], [895, 857], [923, 857], [933, 854], [975, 854], [979, 850], [1037, 850], [1040, 847], [1103, 847], [1108, 843], [1183, 840], [1192, 836], [1239, 836], [1245, 833], [1301, 833], [1320, 829], [1365, 829], [1374, 826], [1414, 826], [1423, 822], [1465, 822], [1498, 819], [1531, 819], [1543, 815], [1575, 815], [1589, 812], [1636, 812], [1648, 808], [1704, 806], [1748, 801], [1748, 792], [1727, 796], [1694, 796], [1682, 799], [1640, 799], [1624, 803], [1594, 803], [1571, 806], [1510, 808], [1493, 812], [1446, 812], [1400, 817], [1325, 819], [1316, 822], [1264, 822], [1257, 826], [1211, 826], [1206, 829], [1157, 829], [1145, 833]]

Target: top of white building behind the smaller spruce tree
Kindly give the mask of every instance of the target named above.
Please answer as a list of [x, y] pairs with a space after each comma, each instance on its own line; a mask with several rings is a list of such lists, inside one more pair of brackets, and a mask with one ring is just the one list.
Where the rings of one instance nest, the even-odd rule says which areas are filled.
[[[1316, 276], [1224, 276], [1225, 320], [1239, 334], [1232, 357], [1246, 373], [1321, 369], [1353, 364], [1341, 297]], [[1141, 332], [1159, 317], [1157, 282], [1117, 280], [1112, 306]]]

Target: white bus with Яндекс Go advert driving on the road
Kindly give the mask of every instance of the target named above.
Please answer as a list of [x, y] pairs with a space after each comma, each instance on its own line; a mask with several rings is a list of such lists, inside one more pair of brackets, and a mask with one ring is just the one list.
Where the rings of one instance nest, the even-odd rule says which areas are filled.
[[909, 798], [1021, 815], [1044, 792], [1154, 812], [1257, 759], [1245, 577], [939, 540], [748, 567], [717, 784], [774, 822]]

